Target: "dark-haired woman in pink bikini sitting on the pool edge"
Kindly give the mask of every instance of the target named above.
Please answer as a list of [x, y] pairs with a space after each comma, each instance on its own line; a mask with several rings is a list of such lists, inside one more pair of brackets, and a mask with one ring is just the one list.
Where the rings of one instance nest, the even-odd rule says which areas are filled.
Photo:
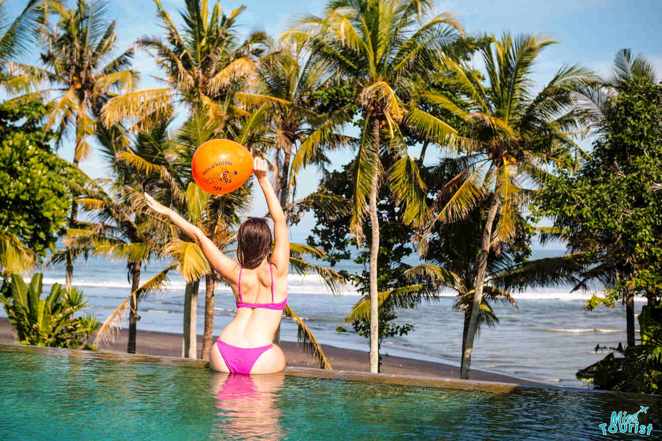
[[237, 311], [232, 322], [220, 333], [209, 360], [211, 368], [220, 372], [270, 374], [285, 368], [285, 354], [272, 341], [287, 303], [289, 236], [283, 208], [267, 180], [267, 161], [255, 158], [253, 173], [273, 219], [271, 259], [271, 231], [264, 219], [251, 218], [239, 227], [237, 263], [224, 255], [201, 229], [145, 194], [152, 210], [166, 215], [195, 239], [211, 267], [234, 292]]

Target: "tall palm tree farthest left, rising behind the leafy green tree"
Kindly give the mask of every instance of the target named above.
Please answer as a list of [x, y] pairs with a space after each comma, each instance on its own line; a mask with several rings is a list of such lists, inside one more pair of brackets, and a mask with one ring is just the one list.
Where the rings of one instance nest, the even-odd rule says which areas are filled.
[[[7, 63], [10, 77], [3, 81], [3, 86], [10, 93], [19, 95], [15, 100], [55, 96], [50, 101], [52, 111], [46, 130], [57, 126], [59, 146], [66, 130], [73, 126], [73, 164], [78, 165], [91, 152], [87, 138], [95, 132], [103, 104], [114, 90], [130, 91], [138, 80], [138, 74], [128, 69], [134, 50], [130, 48], [111, 58], [117, 34], [115, 22], [107, 19], [104, 3], [77, 0], [76, 8], [70, 10], [64, 9], [59, 2], [49, 1], [47, 4], [60, 18], [54, 25], [44, 20], [39, 28], [45, 51], [41, 54], [44, 67]], [[77, 210], [74, 200], [70, 227], [76, 227]], [[70, 289], [73, 261], [78, 254], [72, 249], [65, 251], [62, 259], [66, 262], [66, 286]]]

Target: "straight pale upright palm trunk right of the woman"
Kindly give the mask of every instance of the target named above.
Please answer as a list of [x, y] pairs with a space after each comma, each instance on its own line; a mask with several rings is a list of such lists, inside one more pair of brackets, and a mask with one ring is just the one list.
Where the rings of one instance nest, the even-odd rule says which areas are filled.
[[[379, 151], [379, 118], [373, 120], [375, 155]], [[379, 160], [379, 159], [377, 159]], [[379, 303], [377, 298], [377, 255], [379, 253], [379, 218], [377, 218], [377, 187], [379, 174], [375, 171], [370, 186], [370, 372], [379, 372]]]

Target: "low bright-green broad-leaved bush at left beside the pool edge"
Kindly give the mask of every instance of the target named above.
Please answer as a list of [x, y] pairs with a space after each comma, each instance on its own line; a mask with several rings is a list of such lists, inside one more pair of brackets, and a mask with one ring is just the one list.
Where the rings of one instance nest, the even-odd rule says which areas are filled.
[[60, 284], [53, 284], [50, 294], [41, 299], [43, 274], [34, 274], [30, 286], [19, 274], [11, 276], [5, 295], [0, 301], [5, 305], [9, 323], [22, 344], [54, 346], [58, 348], [91, 349], [87, 339], [101, 323], [91, 315], [73, 317], [87, 307], [83, 292], [73, 288], [66, 291]]

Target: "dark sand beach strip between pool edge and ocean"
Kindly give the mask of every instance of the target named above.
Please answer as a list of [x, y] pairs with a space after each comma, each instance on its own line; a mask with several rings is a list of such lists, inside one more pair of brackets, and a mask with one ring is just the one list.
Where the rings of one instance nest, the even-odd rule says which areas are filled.
[[[216, 337], [216, 336], [214, 336]], [[198, 335], [198, 356], [202, 350], [202, 336]], [[99, 350], [106, 352], [126, 352], [128, 341], [128, 329], [120, 329], [119, 336], [111, 344], [100, 344]], [[7, 317], [0, 317], [0, 342], [15, 343], [13, 329]], [[136, 354], [154, 356], [181, 356], [181, 334], [164, 333], [160, 331], [142, 331], [138, 329], [136, 335]], [[297, 342], [282, 341], [281, 349], [285, 352], [287, 365], [291, 367], [318, 368], [319, 365], [314, 358], [303, 350], [303, 346]], [[369, 352], [356, 349], [339, 348], [322, 344], [324, 355], [328, 358], [334, 370], [349, 370], [357, 372], [369, 372]], [[459, 379], [459, 367], [441, 362], [429, 362], [417, 360], [416, 358], [405, 358], [399, 356], [383, 356], [381, 373], [432, 376], [441, 378]], [[528, 380], [496, 372], [472, 369], [469, 375], [471, 380], [498, 381], [504, 383], [520, 383], [547, 387], [559, 387], [552, 383], [544, 383], [538, 380]]]

